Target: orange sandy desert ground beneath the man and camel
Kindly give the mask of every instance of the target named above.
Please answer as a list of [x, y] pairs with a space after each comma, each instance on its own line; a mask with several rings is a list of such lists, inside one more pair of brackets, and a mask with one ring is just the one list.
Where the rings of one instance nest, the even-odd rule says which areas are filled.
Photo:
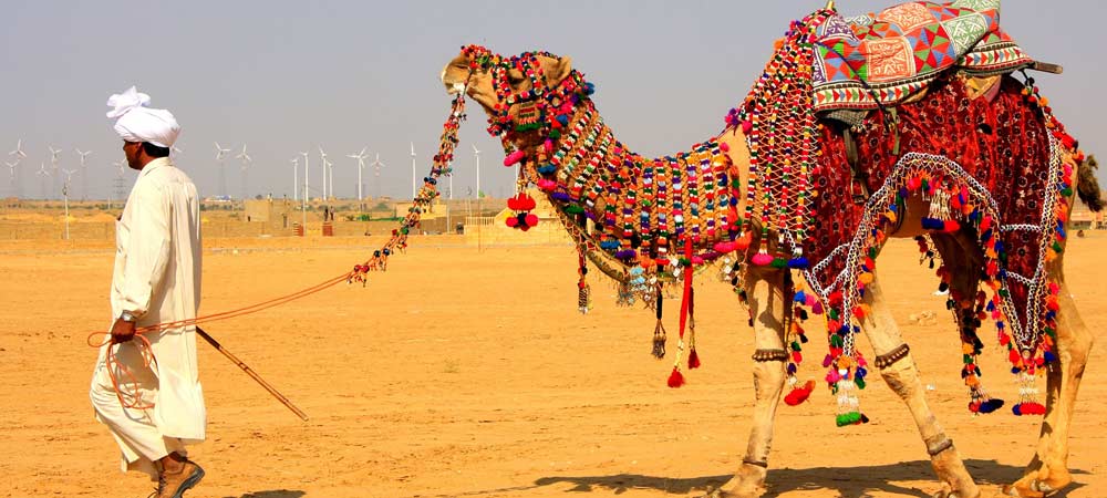
[[[726, 286], [699, 283], [703, 367], [670, 390], [671, 361], [649, 354], [651, 313], [615, 307], [613, 288], [598, 276], [594, 311], [576, 311], [571, 248], [478, 252], [458, 240], [413, 240], [366, 288], [340, 286], [208, 325], [311, 419], [301, 423], [201, 344], [209, 438], [193, 457], [207, 478], [188, 496], [668, 497], [728, 478], [744, 453], [753, 393], [752, 333]], [[203, 312], [315, 283], [375, 247], [364, 238], [211, 243], [219, 247], [205, 255]], [[1067, 262], [1096, 331], [1107, 324], [1107, 270], [1097, 258], [1105, 251], [1107, 235], [1095, 234], [1069, 245]], [[1030, 460], [1039, 418], [969, 416], [956, 333], [943, 298], [931, 294], [935, 279], [918, 266], [910, 240], [891, 242], [880, 259], [923, 381], [933, 386], [929, 401], [994, 496]], [[96, 353], [85, 338], [107, 324], [112, 249], [95, 243], [0, 245], [0, 496], [139, 497], [152, 487], [120, 474], [117, 449], [87, 401]], [[937, 324], [909, 322], [928, 310]], [[675, 319], [669, 313], [670, 332]], [[987, 342], [985, 381], [1012, 400], [1014, 380]], [[1107, 496], [1101, 344], [1076, 411], [1069, 498]], [[825, 340], [807, 351], [821, 356]], [[801, 372], [817, 377], [820, 370]], [[782, 406], [768, 496], [935, 491], [908, 412], [878, 375], [862, 406], [872, 423], [842, 429], [834, 427], [824, 390], [799, 407]]]

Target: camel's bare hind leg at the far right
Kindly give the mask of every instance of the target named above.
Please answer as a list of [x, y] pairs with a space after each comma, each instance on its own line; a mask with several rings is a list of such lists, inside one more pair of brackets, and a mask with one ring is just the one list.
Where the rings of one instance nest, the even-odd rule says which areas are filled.
[[[1064, 282], [1061, 261], [1055, 261], [1051, 273]], [[1061, 311], [1057, 313], [1058, 361], [1049, 365], [1046, 375], [1046, 412], [1042, 421], [1042, 435], [1037, 452], [1022, 479], [1004, 488], [1016, 497], [1043, 497], [1051, 495], [1073, 481], [1068, 474], [1068, 433], [1072, 427], [1076, 392], [1084, 377], [1084, 366], [1088, 361], [1094, 338], [1080, 319], [1076, 303], [1062, 283], [1057, 297]]]

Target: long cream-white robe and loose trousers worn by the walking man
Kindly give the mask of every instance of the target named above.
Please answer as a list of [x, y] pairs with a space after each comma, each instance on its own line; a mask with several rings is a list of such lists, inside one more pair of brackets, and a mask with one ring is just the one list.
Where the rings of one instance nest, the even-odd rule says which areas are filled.
[[[113, 321], [123, 311], [138, 326], [196, 317], [200, 303], [200, 216], [196, 186], [167, 158], [146, 164], [116, 222], [112, 276]], [[193, 326], [147, 333], [156, 365], [143, 367], [137, 341], [100, 349], [90, 397], [96, 419], [123, 450], [123, 469], [156, 476], [153, 460], [205, 437], [207, 415], [196, 369]], [[104, 359], [108, 347], [135, 373], [139, 396], [153, 409], [123, 408]], [[118, 376], [118, 375], [117, 375]], [[124, 378], [121, 378], [122, 383]], [[130, 388], [130, 384], [124, 388]]]

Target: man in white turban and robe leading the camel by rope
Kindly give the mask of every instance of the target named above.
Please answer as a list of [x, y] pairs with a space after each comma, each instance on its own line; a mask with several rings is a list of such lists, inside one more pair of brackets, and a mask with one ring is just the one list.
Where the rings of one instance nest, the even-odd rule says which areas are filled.
[[[180, 498], [204, 477], [185, 444], [204, 440], [204, 392], [195, 328], [135, 338], [138, 328], [196, 317], [200, 302], [200, 218], [196, 186], [168, 158], [180, 127], [148, 108], [134, 86], [107, 101], [138, 179], [116, 222], [111, 340], [100, 349], [90, 397], [96, 419], [123, 450], [123, 470], [158, 481], [158, 498]], [[148, 341], [148, 351], [146, 349]], [[147, 361], [144, 353], [153, 353]]]

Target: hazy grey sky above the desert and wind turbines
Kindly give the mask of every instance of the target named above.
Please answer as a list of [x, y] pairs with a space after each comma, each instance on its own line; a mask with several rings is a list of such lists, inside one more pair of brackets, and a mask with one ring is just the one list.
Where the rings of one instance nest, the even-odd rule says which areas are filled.
[[[767, 61], [772, 41], [823, 3], [4, 0], [0, 149], [7, 160], [23, 138], [30, 157], [19, 166], [19, 185], [32, 197], [42, 191], [34, 172], [40, 163], [49, 168], [48, 145], [64, 149], [65, 169], [79, 167], [74, 148], [92, 149], [90, 196], [104, 198], [116, 175], [112, 163], [123, 157], [105, 102], [135, 84], [154, 107], [177, 116], [178, 165], [204, 195], [217, 194], [218, 141], [248, 145], [251, 194], [291, 196], [289, 159], [301, 151], [312, 152], [311, 179], [319, 185], [321, 145], [335, 163], [339, 196], [356, 193], [355, 162], [345, 155], [368, 146], [386, 164], [382, 194], [410, 197], [408, 142], [422, 176], [448, 111], [439, 71], [463, 44], [479, 43], [503, 54], [571, 55], [597, 85], [594, 100], [617, 136], [640, 153], [666, 154], [716, 133]], [[838, 9], [851, 15], [893, 3], [841, 0]], [[1090, 153], [1107, 128], [1104, 19], [1101, 1], [1007, 0], [1001, 22], [1032, 56], [1065, 66], [1062, 76], [1037, 80]], [[484, 113], [472, 101], [469, 111], [455, 198], [475, 185], [469, 144], [484, 152], [484, 190], [500, 195], [511, 175], [484, 131]], [[371, 169], [365, 175], [366, 195], [375, 194]], [[126, 178], [130, 189], [134, 173]], [[228, 194], [239, 194], [239, 181], [230, 159]], [[0, 195], [10, 193], [8, 168], [0, 168]]]

